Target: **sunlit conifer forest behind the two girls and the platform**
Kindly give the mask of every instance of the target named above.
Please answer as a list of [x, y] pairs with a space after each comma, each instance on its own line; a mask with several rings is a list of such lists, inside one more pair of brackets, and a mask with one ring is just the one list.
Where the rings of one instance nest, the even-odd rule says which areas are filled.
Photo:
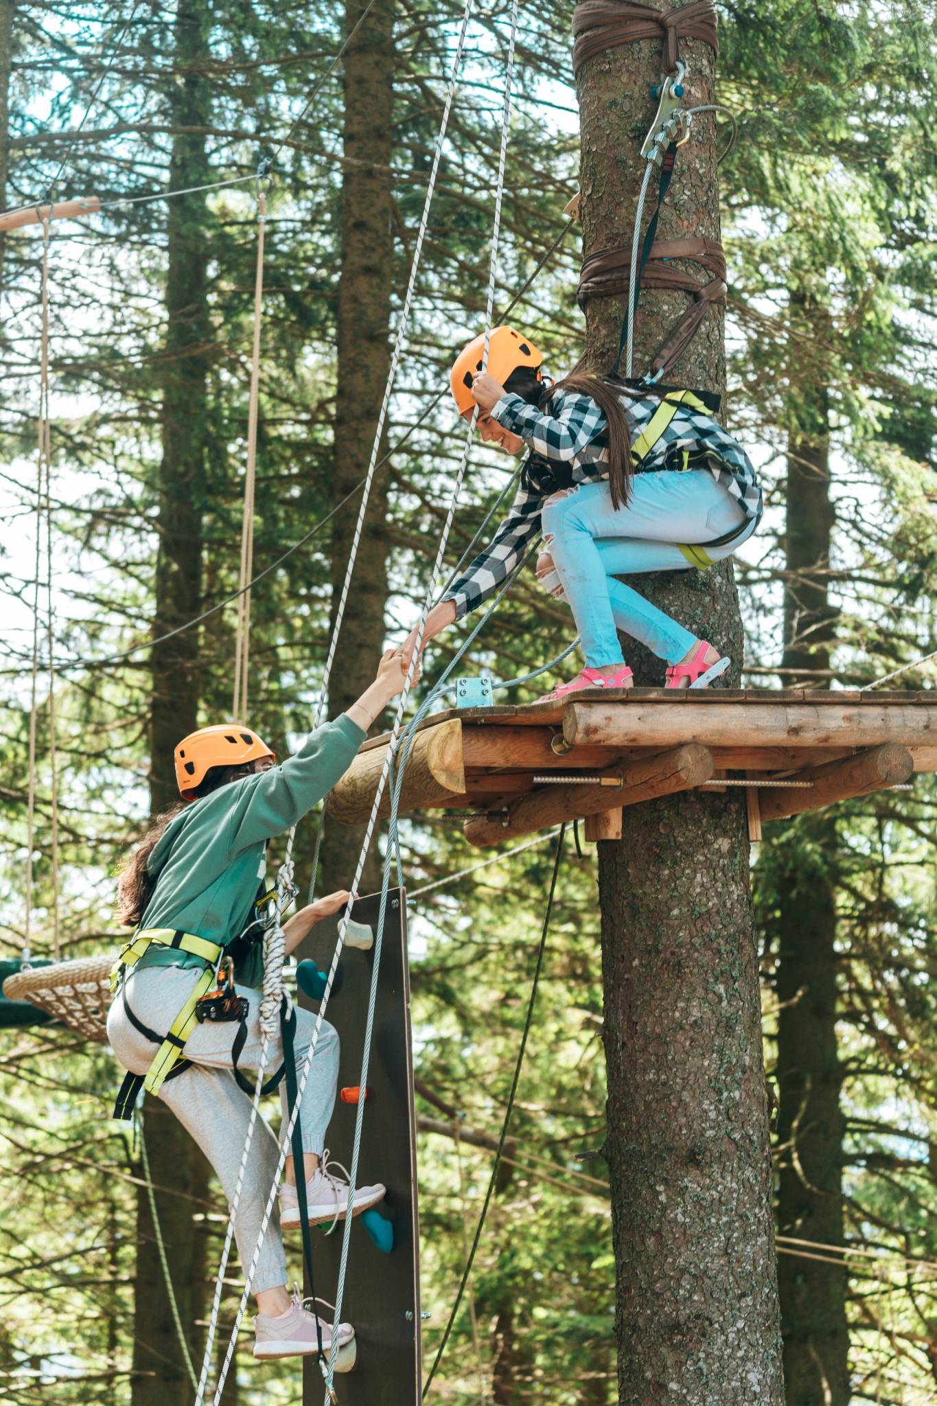
[[[254, 589], [249, 720], [281, 755], [309, 725], [461, 17], [448, 4], [375, 0], [306, 110], [362, 10], [355, 0], [347, 10], [0, 0], [3, 208], [49, 191], [105, 204], [51, 229], [48, 495], [37, 492], [35, 456], [41, 231], [0, 236], [4, 957], [27, 941], [34, 955], [58, 942], [67, 957], [115, 946], [115, 873], [148, 815], [173, 799], [171, 747], [230, 713], [233, 606], [149, 641], [237, 586], [257, 240], [244, 177], [264, 157], [274, 163], [254, 571], [323, 526]], [[428, 583], [459, 453], [448, 396], [437, 398], [483, 321], [509, 22], [496, 3], [469, 24], [332, 714], [371, 676], [385, 640], [409, 630]], [[503, 308], [556, 245], [513, 321], [558, 373], [583, 337], [577, 229], [562, 214], [579, 155], [569, 24], [566, 6], [520, 11], [497, 270]], [[934, 10], [723, 4], [719, 34], [719, 101], [739, 124], [719, 169], [726, 413], [768, 505], [736, 558], [746, 682], [865, 685], [937, 650]], [[506, 478], [504, 463], [475, 446], [450, 567]], [[513, 678], [570, 634], [565, 609], [523, 576], [465, 672]], [[458, 630], [433, 647], [427, 682], [457, 640]], [[933, 678], [923, 664], [900, 682]], [[791, 1403], [912, 1406], [937, 1388], [936, 803], [930, 778], [917, 776], [907, 794], [766, 827], [753, 846]], [[466, 1129], [492, 1133], [556, 841], [452, 877], [483, 858], [459, 824], [414, 815], [403, 830], [419, 1105], [424, 1121], [455, 1111]], [[350, 882], [358, 838], [325, 830], [319, 893]], [[312, 817], [298, 835], [301, 887], [315, 839]], [[596, 872], [594, 846], [570, 838], [511, 1160], [437, 1376], [452, 1400], [617, 1399], [604, 1163], [573, 1161], [601, 1147], [604, 1126]], [[110, 1122], [112, 1060], [58, 1028], [6, 1031], [0, 1081], [0, 1392], [24, 1403], [191, 1400], [139, 1135]], [[145, 1128], [198, 1360], [226, 1206], [157, 1104]], [[490, 1154], [424, 1132], [420, 1159], [431, 1351]], [[222, 1322], [235, 1275], [229, 1291]], [[226, 1406], [298, 1400], [295, 1368], [258, 1367], [249, 1343]]]

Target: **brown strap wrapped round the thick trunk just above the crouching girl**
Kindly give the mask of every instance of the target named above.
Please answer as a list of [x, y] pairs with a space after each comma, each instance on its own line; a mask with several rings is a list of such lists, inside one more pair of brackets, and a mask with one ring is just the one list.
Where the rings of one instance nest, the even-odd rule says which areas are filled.
[[[670, 263], [671, 259], [688, 259], [701, 269], [708, 269], [715, 277], [701, 283], [691, 273]], [[583, 262], [576, 297], [580, 308], [584, 308], [590, 298], [614, 298], [628, 292], [629, 287], [631, 245], [617, 245], [614, 249], [600, 249]], [[683, 292], [691, 292], [695, 299], [653, 359], [652, 371], [666, 374], [693, 342], [708, 305], [722, 301], [726, 295], [722, 245], [716, 239], [655, 239], [642, 287], [680, 288]]]

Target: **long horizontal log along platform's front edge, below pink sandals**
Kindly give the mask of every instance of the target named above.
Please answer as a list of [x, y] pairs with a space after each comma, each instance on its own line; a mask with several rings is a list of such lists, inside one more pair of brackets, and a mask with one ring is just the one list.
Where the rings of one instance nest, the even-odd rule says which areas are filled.
[[903, 747], [937, 744], [937, 714], [902, 703], [568, 703], [570, 747]]

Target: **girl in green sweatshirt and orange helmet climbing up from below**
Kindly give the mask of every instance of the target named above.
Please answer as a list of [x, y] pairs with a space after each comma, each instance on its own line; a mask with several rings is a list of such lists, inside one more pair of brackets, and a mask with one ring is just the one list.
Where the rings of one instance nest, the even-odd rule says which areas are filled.
[[[136, 927], [122, 953], [121, 983], [108, 1014], [114, 1053], [133, 1076], [148, 1076], [148, 1088], [169, 1104], [209, 1159], [229, 1201], [235, 1194], [247, 1133], [251, 1098], [235, 1078], [236, 1064], [257, 1069], [263, 955], [256, 901], [267, 870], [267, 844], [295, 825], [351, 765], [367, 730], [405, 682], [400, 650], [388, 650], [375, 682], [347, 713], [310, 733], [282, 765], [270, 748], [236, 724], [202, 728], [176, 749], [183, 804], [157, 818], [124, 870], [118, 886], [118, 917]], [[211, 763], [211, 765], [208, 765]], [[309, 929], [348, 900], [346, 891], [309, 904], [284, 924], [287, 953]], [[195, 1000], [215, 984], [222, 952], [235, 962], [236, 993], [247, 1004], [243, 1022], [198, 1024]], [[183, 1019], [188, 1010], [190, 1018]], [[315, 1017], [296, 1011], [295, 1062], [305, 1064]], [[176, 1032], [176, 1033], [173, 1033]], [[156, 1046], [160, 1046], [156, 1052]], [[167, 1052], [163, 1057], [163, 1052]], [[156, 1060], [155, 1060], [156, 1053]], [[280, 1035], [270, 1040], [268, 1069], [284, 1052]], [[160, 1064], [162, 1059], [162, 1064]], [[325, 1135], [334, 1105], [339, 1036], [323, 1021], [302, 1102], [302, 1144], [309, 1222], [358, 1215], [384, 1197], [384, 1187], [360, 1187], [354, 1195], [347, 1173], [329, 1161]], [[125, 1087], [126, 1081], [125, 1081]], [[138, 1084], [131, 1083], [132, 1092]], [[285, 1116], [285, 1081], [281, 1083]], [[125, 1099], [126, 1101], [126, 1099]], [[244, 1171], [235, 1237], [242, 1264], [251, 1263], [270, 1187], [280, 1157], [268, 1125], [254, 1128]], [[333, 1334], [348, 1348], [354, 1329], [316, 1319], [299, 1292], [287, 1288], [282, 1225], [299, 1225], [296, 1171], [287, 1157], [274, 1209], [253, 1279], [257, 1299], [254, 1355], [263, 1358], [313, 1354], [319, 1334], [326, 1351]], [[339, 1354], [350, 1365], [353, 1350]]]

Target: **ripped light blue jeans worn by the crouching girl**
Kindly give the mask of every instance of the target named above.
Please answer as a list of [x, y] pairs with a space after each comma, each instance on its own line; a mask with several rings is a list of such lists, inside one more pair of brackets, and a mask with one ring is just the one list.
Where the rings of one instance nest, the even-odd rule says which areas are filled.
[[537, 576], [572, 609], [586, 666], [624, 664], [617, 630], [667, 664], [679, 664], [695, 636], [615, 576], [688, 571], [691, 564], [677, 543], [704, 546], [712, 561], [722, 561], [747, 541], [754, 523], [722, 547], [707, 543], [743, 522], [745, 509], [708, 468], [635, 474], [628, 505], [617, 510], [608, 484], [579, 484], [548, 498], [542, 510], [546, 555], [537, 564]]

